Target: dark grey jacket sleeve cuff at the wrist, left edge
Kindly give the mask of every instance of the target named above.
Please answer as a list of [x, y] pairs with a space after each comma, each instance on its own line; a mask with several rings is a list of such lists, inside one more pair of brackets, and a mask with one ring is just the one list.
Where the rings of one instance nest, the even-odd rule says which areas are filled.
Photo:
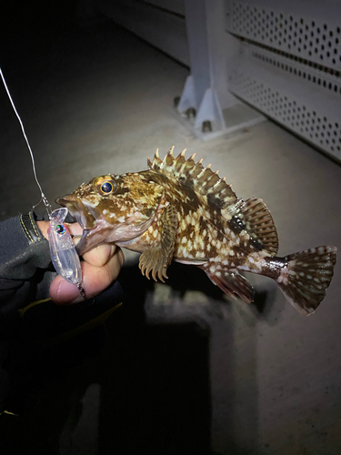
[[[33, 211], [0, 223], [0, 310], [25, 303], [38, 268], [51, 262]], [[6, 308], [6, 309], [10, 309]]]

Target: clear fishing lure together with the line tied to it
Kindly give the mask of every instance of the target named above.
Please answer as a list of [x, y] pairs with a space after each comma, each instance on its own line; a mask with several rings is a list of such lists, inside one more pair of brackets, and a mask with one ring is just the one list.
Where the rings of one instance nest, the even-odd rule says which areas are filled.
[[[41, 193], [41, 201], [43, 201], [43, 203], [45, 205], [47, 215], [48, 215], [48, 218], [50, 221], [49, 226], [48, 226], [48, 243], [49, 243], [49, 247], [50, 247], [50, 256], [51, 256], [52, 263], [55, 267], [56, 272], [61, 277], [65, 278], [66, 281], [77, 286], [81, 296], [83, 298], [85, 298], [85, 290], [82, 286], [82, 268], [81, 268], [79, 256], [75, 249], [75, 245], [72, 240], [70, 231], [68, 230], [68, 228], [65, 225], [65, 217], [68, 213], [68, 209], [65, 207], [62, 207], [62, 208], [57, 208], [54, 211], [51, 210], [51, 205], [48, 202], [47, 198], [45, 197], [43, 189], [40, 186], [38, 178], [36, 177], [35, 158], [33, 156], [31, 146], [30, 146], [27, 136], [25, 134], [25, 128], [24, 128], [23, 122], [22, 122], [19, 114], [16, 111], [12, 96], [9, 93], [8, 87], [5, 83], [5, 77], [3, 75], [1, 68], [0, 68], [0, 76], [3, 80], [4, 86], [5, 86], [5, 91], [11, 102], [11, 105], [15, 111], [15, 115], [16, 115], [17, 119], [19, 120], [23, 135], [25, 137], [25, 142], [27, 144], [27, 147], [30, 152], [31, 159], [32, 159], [32, 167], [33, 167], [33, 173], [35, 176], [35, 182], [36, 182], [37, 186], [39, 187], [39, 190]], [[41, 201], [39, 201], [38, 204]], [[34, 206], [34, 208], [38, 204], [36, 204]]]

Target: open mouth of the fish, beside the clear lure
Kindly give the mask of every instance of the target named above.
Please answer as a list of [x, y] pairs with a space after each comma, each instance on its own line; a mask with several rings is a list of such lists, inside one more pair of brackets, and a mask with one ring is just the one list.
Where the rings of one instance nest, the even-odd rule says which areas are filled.
[[76, 197], [75, 195], [65, 195], [64, 197], [57, 197], [55, 202], [62, 207], [66, 207], [70, 212], [70, 215], [75, 218], [75, 221], [83, 227], [83, 234], [75, 249], [79, 256], [84, 254], [87, 249], [85, 247], [86, 238], [90, 230], [97, 227], [97, 221], [95, 218], [95, 210]]

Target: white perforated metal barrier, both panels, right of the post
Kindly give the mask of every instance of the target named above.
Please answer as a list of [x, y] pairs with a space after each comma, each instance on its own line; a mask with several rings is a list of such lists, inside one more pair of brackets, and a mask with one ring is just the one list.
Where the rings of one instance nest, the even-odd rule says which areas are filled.
[[341, 2], [269, 3], [227, 4], [228, 31], [245, 38], [229, 88], [341, 160]]

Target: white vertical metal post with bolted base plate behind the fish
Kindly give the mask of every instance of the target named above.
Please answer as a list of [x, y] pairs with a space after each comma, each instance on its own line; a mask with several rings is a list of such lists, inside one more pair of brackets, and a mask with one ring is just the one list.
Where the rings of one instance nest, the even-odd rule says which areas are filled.
[[[194, 132], [205, 140], [263, 120], [263, 116], [228, 90], [228, 69], [239, 52], [240, 42], [226, 32], [224, 0], [185, 0], [185, 16], [191, 75], [186, 80], [178, 112], [196, 109]], [[234, 106], [236, 112], [227, 116], [226, 125], [223, 110]], [[208, 132], [202, 135], [202, 129]]]

